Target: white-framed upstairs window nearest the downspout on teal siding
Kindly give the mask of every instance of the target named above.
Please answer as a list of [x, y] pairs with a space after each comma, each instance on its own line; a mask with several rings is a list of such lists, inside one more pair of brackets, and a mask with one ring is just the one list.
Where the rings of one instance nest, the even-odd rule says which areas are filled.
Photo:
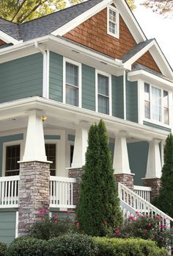
[[63, 102], [81, 107], [81, 64], [73, 60], [65, 60], [64, 68]]

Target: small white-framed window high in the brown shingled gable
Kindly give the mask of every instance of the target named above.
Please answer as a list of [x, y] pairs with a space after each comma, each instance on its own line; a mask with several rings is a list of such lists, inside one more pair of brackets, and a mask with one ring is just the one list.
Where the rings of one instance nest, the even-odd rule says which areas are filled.
[[108, 34], [119, 38], [119, 13], [113, 6], [108, 7]]

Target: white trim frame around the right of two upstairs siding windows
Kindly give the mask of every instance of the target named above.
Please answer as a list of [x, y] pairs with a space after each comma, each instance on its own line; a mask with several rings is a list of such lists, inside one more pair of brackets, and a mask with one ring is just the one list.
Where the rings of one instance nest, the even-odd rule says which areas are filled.
[[112, 115], [112, 104], [111, 104], [111, 74], [105, 73], [103, 71], [95, 70], [95, 111], [98, 112], [98, 74], [108, 77], [108, 99], [109, 99], [109, 110], [108, 114], [101, 113], [103, 115]]

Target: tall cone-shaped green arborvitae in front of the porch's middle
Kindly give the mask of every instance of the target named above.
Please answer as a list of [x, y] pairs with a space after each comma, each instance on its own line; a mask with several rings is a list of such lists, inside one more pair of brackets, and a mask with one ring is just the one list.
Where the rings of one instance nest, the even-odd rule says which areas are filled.
[[80, 229], [103, 236], [122, 224], [117, 185], [113, 177], [111, 152], [103, 121], [89, 129], [86, 165], [76, 208]]

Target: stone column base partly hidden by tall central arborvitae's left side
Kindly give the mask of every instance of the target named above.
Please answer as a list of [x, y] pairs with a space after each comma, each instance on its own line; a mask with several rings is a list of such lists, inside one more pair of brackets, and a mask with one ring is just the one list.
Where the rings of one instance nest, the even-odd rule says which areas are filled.
[[82, 168], [70, 168], [68, 171], [69, 178], [76, 178], [76, 183], [73, 184], [73, 205], [77, 205], [79, 198], [79, 187], [81, 183], [81, 177], [83, 174]]

